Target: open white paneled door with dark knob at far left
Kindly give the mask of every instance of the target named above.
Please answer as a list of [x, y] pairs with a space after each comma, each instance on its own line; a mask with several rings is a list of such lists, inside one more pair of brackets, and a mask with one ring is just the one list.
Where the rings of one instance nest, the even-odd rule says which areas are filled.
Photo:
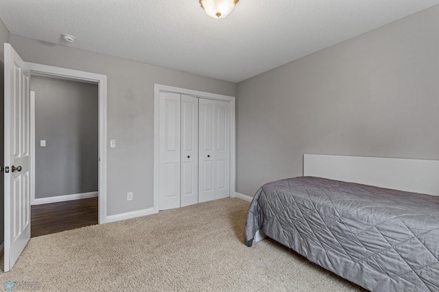
[[5, 271], [30, 239], [29, 80], [25, 62], [5, 47]]

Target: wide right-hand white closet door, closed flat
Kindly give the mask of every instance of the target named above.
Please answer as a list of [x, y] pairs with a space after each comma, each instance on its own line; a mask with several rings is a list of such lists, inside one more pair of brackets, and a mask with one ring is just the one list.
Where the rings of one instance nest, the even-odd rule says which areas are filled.
[[230, 103], [199, 99], [198, 202], [230, 197]]

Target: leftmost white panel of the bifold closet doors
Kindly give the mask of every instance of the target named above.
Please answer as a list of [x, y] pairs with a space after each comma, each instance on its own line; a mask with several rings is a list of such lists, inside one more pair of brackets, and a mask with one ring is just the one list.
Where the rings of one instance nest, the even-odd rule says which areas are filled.
[[180, 104], [178, 93], [160, 93], [158, 210], [180, 207]]

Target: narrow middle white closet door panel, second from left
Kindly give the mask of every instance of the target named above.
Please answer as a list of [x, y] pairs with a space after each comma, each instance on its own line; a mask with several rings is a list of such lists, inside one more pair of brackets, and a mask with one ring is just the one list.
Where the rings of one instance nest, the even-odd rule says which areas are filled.
[[198, 203], [198, 98], [181, 95], [181, 206]]

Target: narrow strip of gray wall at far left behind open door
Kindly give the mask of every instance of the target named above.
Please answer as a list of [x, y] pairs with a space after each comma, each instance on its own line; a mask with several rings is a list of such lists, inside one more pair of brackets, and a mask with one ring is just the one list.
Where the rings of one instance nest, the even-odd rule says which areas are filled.
[[[3, 21], [0, 19], [0, 165], [4, 167], [4, 138], [5, 138], [5, 127], [4, 127], [4, 64], [3, 64], [3, 43], [9, 42], [9, 32], [8, 29], [6, 29], [5, 25], [3, 24]], [[3, 243], [3, 236], [4, 236], [4, 175], [1, 173], [0, 175], [0, 244]]]

